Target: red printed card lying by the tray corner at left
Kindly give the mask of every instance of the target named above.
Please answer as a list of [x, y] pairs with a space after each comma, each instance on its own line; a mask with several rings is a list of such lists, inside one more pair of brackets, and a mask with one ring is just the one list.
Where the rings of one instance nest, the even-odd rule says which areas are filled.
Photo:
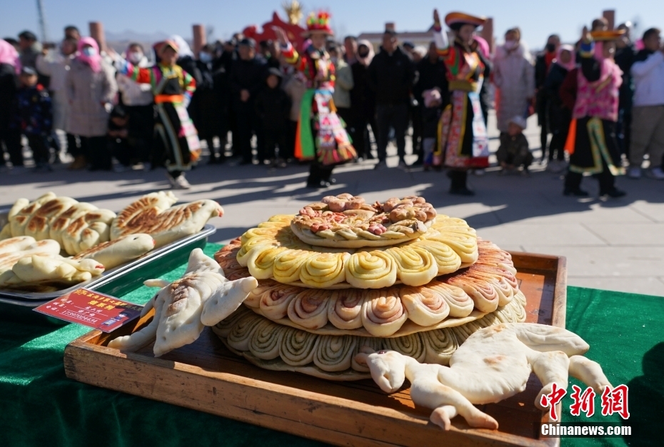
[[142, 308], [114, 296], [77, 288], [34, 310], [71, 323], [111, 332], [139, 316]]

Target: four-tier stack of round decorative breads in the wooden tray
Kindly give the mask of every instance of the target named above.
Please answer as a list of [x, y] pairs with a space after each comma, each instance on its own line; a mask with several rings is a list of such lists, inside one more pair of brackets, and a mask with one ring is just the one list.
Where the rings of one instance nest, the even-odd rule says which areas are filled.
[[341, 194], [273, 216], [216, 253], [258, 288], [213, 328], [252, 363], [333, 380], [369, 376], [362, 346], [447, 364], [479, 328], [525, 321], [509, 253], [422, 197]]

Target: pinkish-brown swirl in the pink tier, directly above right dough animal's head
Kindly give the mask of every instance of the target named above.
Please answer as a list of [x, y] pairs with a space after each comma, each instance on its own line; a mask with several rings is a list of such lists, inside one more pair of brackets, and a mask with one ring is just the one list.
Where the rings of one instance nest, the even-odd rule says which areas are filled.
[[375, 337], [388, 337], [408, 319], [396, 288], [382, 288], [366, 293], [362, 303], [362, 325]]

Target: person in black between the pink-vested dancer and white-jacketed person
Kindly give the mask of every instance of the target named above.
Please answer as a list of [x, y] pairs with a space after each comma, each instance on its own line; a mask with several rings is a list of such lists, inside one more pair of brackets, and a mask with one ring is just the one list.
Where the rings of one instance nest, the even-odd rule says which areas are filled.
[[620, 99], [618, 101], [618, 124], [616, 135], [620, 152], [629, 160], [630, 141], [632, 136], [632, 102], [634, 96], [634, 82], [632, 81], [632, 64], [636, 49], [630, 41], [630, 27], [620, 24], [618, 30], [625, 30], [625, 34], [615, 41], [615, 63], [623, 71], [623, 84], [620, 85]]

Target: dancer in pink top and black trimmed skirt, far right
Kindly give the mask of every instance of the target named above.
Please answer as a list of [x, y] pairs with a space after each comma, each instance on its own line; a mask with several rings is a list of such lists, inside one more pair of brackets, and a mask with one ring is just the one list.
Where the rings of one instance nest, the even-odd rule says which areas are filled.
[[[624, 32], [624, 31], [623, 31]], [[623, 82], [613, 61], [615, 39], [623, 32], [593, 31], [583, 28], [580, 40], [580, 68], [573, 69], [560, 86], [560, 97], [573, 110], [573, 121], [565, 144], [570, 166], [565, 176], [565, 196], [588, 196], [580, 189], [583, 174], [598, 179], [600, 196], [622, 197], [615, 187], [620, 149], [615, 138], [618, 121], [618, 90]]]

